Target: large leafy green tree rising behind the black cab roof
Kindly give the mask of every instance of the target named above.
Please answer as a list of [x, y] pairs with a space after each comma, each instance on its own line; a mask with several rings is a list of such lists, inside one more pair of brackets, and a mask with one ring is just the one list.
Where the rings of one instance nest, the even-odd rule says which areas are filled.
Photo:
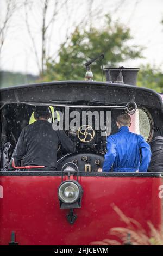
[[[118, 22], [112, 22], [106, 16], [103, 29], [91, 27], [89, 31], [81, 31], [76, 27], [69, 41], [61, 44], [59, 61], [49, 58], [46, 63], [45, 81], [51, 80], [83, 80], [85, 75], [84, 63], [101, 53], [105, 54], [103, 64], [118, 65], [127, 59], [141, 58], [142, 47], [129, 46], [130, 29]], [[101, 78], [101, 62], [92, 64], [95, 79]]]

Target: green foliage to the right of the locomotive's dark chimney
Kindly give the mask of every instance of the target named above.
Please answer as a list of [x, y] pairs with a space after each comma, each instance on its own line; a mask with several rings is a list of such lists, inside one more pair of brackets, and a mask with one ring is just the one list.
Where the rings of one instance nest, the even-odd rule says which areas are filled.
[[143, 65], [140, 67], [137, 84], [156, 90], [156, 92], [163, 92], [163, 74], [159, 68], [149, 64]]

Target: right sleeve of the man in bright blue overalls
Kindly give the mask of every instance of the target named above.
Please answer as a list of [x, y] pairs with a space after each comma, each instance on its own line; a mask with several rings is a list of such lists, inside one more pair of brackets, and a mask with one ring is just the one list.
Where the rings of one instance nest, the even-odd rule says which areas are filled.
[[149, 144], [142, 136], [140, 136], [139, 148], [141, 153], [139, 172], [147, 172], [149, 163], [151, 161], [151, 149]]

